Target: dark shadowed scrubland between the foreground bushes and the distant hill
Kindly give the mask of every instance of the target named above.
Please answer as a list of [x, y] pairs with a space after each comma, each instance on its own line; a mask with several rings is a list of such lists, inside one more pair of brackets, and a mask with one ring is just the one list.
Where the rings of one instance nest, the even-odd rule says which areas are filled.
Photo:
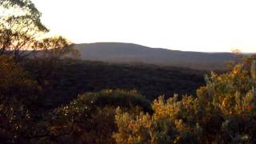
[[[28, 69], [37, 69], [36, 66]], [[138, 90], [150, 100], [165, 94], [194, 94], [204, 84], [202, 71], [151, 65], [64, 62], [54, 70], [44, 95], [47, 106], [70, 102], [83, 92], [104, 89]]]

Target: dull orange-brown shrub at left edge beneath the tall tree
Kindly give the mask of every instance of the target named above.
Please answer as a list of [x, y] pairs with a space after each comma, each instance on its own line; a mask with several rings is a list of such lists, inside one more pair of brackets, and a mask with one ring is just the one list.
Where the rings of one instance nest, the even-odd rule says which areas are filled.
[[0, 56], [0, 101], [31, 103], [37, 98], [37, 83], [10, 56]]

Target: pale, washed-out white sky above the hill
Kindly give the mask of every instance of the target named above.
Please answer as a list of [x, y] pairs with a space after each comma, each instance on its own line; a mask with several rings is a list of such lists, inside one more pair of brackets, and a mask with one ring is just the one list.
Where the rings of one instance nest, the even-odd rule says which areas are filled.
[[255, 0], [32, 0], [72, 42], [256, 52]]

